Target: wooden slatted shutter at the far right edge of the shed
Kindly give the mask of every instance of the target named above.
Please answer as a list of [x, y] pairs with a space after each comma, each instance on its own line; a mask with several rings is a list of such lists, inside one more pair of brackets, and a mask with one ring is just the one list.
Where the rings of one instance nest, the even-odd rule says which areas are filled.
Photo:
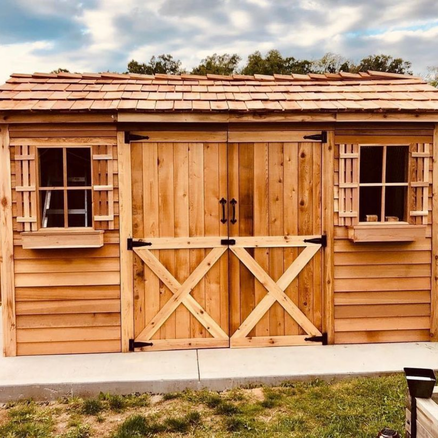
[[410, 145], [410, 223], [427, 225], [430, 150], [429, 143]]

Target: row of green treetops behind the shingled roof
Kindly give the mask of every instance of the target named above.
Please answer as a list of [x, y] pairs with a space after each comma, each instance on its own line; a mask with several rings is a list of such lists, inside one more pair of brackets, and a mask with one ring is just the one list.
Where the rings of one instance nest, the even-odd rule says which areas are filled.
[[170, 54], [153, 56], [148, 62], [131, 60], [127, 65], [128, 73], [138, 74], [308, 74], [308, 73], [338, 73], [339, 71], [357, 73], [358, 71], [377, 70], [391, 73], [412, 74], [410, 61], [394, 58], [390, 55], [369, 55], [355, 62], [337, 53], [326, 53], [317, 60], [285, 57], [279, 50], [269, 50], [262, 55], [260, 51], [251, 53], [242, 66], [242, 58], [237, 54], [213, 53], [205, 57], [191, 70], [185, 68], [182, 62]]

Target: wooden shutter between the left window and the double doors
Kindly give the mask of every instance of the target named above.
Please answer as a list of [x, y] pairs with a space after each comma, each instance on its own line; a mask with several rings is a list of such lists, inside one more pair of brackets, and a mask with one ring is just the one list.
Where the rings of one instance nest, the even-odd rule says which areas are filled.
[[114, 229], [113, 146], [93, 146], [93, 213], [95, 229]]

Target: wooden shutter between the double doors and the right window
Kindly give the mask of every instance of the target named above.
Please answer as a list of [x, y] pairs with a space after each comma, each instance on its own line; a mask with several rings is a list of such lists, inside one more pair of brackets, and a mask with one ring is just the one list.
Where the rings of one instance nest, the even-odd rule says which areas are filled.
[[354, 225], [359, 217], [359, 145], [339, 145], [338, 225]]

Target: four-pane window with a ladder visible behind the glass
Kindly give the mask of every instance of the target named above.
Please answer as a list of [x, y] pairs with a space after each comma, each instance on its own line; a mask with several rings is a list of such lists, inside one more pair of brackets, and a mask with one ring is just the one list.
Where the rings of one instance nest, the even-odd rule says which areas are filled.
[[41, 228], [91, 227], [91, 148], [38, 148]]

